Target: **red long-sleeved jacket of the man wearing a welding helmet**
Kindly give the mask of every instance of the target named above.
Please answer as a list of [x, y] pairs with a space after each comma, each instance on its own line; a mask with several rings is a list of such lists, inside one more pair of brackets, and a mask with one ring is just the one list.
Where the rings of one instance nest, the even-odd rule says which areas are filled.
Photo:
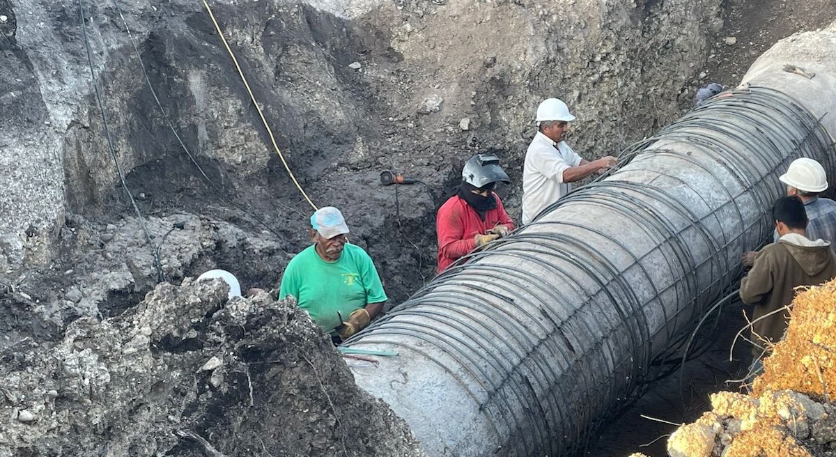
[[456, 262], [461, 256], [473, 251], [476, 241], [473, 239], [478, 234], [484, 235], [488, 230], [497, 224], [507, 226], [508, 230], [514, 229], [514, 222], [502, 201], [497, 194], [492, 194], [497, 199], [497, 207], [488, 210], [485, 220], [479, 218], [476, 210], [467, 204], [459, 195], [453, 195], [441, 205], [436, 213], [436, 234], [438, 236], [438, 269], [441, 273]]

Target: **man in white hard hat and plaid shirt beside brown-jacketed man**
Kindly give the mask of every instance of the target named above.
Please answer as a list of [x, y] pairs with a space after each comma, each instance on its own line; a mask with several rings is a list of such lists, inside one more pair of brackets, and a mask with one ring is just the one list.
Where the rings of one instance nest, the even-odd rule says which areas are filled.
[[[802, 157], [793, 160], [787, 172], [778, 180], [787, 185], [787, 195], [797, 196], [804, 204], [809, 220], [807, 237], [811, 240], [830, 241], [830, 249], [836, 253], [836, 201], [818, 196], [828, 189], [828, 177], [824, 167], [813, 159]], [[777, 241], [777, 232], [774, 241]], [[743, 253], [742, 264], [752, 267], [757, 251]]]

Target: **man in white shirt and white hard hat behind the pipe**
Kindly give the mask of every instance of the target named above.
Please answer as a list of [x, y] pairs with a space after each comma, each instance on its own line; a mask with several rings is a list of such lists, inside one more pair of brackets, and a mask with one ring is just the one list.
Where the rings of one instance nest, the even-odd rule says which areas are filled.
[[584, 160], [566, 144], [575, 117], [562, 100], [545, 99], [537, 107], [538, 133], [523, 165], [523, 224], [572, 190], [570, 183], [615, 165], [615, 157]]

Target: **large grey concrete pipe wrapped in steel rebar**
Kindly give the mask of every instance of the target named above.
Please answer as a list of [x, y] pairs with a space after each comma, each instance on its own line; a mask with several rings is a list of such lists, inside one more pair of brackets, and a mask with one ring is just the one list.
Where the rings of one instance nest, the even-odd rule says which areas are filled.
[[742, 252], [771, 236], [789, 162], [833, 172], [834, 72], [836, 30], [778, 43], [744, 86], [349, 340], [400, 353], [354, 368], [357, 383], [431, 455], [568, 454], [733, 287]]

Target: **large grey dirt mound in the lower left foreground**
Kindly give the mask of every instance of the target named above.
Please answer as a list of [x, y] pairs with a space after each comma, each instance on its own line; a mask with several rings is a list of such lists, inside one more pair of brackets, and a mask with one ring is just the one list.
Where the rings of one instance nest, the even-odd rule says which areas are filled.
[[120, 317], [0, 350], [0, 456], [400, 455], [423, 451], [360, 391], [292, 301], [161, 284]]

